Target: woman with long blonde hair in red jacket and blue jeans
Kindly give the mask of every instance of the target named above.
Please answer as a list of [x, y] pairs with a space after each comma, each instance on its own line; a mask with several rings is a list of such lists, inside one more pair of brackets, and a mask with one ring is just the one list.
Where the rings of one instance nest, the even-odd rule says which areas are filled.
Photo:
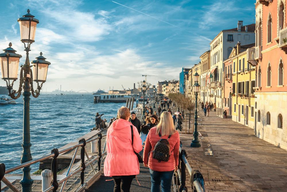
[[[177, 171], [179, 159], [179, 132], [174, 129], [173, 120], [168, 112], [160, 115], [160, 122], [154, 128], [151, 128], [146, 138], [144, 146], [144, 166], [150, 168], [151, 191], [159, 192], [160, 185], [162, 191], [170, 191], [172, 176]], [[153, 149], [160, 139], [167, 139], [169, 143], [168, 161], [158, 161], [153, 158]]]

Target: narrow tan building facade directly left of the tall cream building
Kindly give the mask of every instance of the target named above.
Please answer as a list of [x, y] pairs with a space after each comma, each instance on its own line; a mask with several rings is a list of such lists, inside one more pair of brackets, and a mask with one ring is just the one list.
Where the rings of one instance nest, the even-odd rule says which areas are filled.
[[207, 80], [208, 72], [210, 71], [210, 50], [202, 54], [200, 57], [200, 98], [202, 102], [208, 101]]

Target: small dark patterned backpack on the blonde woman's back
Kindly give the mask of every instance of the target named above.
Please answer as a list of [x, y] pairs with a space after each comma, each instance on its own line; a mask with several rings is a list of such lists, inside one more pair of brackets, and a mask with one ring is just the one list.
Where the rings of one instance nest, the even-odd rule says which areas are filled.
[[158, 135], [160, 136], [160, 140], [156, 143], [156, 146], [154, 146], [154, 150], [152, 151], [152, 157], [154, 159], [157, 159], [158, 162], [160, 161], [168, 161], [169, 156], [171, 155], [171, 153], [169, 153], [170, 150], [170, 146], [169, 146], [169, 138], [171, 136], [171, 134], [168, 136], [168, 139], [162, 139], [161, 138], [161, 134], [160, 132], [158, 133]]

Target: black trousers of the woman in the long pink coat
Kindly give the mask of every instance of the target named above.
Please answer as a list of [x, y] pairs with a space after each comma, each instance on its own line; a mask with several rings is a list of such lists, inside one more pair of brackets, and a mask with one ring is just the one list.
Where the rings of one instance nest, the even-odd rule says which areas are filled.
[[135, 178], [135, 175], [113, 176], [115, 182], [114, 192], [129, 192], [133, 178]]

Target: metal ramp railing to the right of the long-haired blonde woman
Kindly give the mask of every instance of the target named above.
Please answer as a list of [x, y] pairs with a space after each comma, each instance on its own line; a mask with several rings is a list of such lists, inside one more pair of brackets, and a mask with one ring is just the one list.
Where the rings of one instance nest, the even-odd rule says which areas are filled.
[[[186, 169], [189, 172], [189, 182], [191, 184], [191, 189], [194, 192], [205, 192], [204, 178], [198, 170], [193, 170], [187, 161], [187, 153], [182, 149], [182, 143], [179, 147], [179, 168], [176, 173], [176, 183], [177, 187], [174, 187], [174, 192], [187, 192], [187, 187], [185, 186], [186, 181]], [[174, 184], [175, 185], [175, 184]]]

